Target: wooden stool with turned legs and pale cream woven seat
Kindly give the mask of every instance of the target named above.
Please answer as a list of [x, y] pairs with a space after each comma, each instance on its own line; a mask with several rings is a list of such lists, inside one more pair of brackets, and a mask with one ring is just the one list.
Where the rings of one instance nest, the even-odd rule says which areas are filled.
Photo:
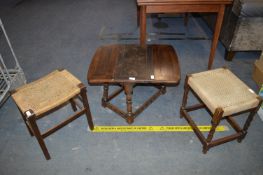
[[[206, 153], [213, 146], [234, 139], [241, 142], [262, 103], [262, 99], [258, 95], [226, 68], [188, 75], [185, 79], [184, 89], [181, 118], [184, 117], [193, 128], [203, 144], [203, 153]], [[186, 106], [189, 90], [200, 100], [201, 104]], [[188, 112], [200, 108], [206, 108], [212, 114], [212, 126], [207, 138], [204, 137], [188, 114]], [[243, 128], [241, 128], [233, 117], [245, 112], [250, 112], [250, 114]], [[215, 129], [223, 119], [226, 119], [236, 133], [212, 141]]]

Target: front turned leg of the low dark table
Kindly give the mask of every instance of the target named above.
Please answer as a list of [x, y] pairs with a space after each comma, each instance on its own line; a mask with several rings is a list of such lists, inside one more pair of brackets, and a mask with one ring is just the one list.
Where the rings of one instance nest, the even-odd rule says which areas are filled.
[[134, 118], [132, 116], [132, 89], [133, 89], [133, 85], [132, 84], [125, 84], [124, 85], [124, 91], [126, 94], [126, 104], [127, 104], [127, 122], [129, 124], [133, 123]]

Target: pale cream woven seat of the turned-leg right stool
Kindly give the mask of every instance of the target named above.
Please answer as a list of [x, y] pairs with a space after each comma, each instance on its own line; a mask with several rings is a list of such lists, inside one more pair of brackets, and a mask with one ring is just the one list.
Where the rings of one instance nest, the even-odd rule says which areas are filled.
[[225, 68], [192, 74], [188, 83], [212, 113], [220, 107], [228, 116], [259, 104], [258, 96]]

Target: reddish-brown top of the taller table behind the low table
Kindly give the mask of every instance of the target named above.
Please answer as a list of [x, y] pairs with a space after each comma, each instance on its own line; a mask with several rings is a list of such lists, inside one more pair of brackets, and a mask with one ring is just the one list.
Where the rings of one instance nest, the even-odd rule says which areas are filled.
[[231, 4], [233, 0], [137, 0], [138, 5]]

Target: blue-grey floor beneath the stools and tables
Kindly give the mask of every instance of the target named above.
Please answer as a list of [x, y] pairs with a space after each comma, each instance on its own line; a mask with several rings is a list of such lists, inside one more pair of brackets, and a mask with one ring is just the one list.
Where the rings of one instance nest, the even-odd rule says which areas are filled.
[[[6, 1], [0, 15], [12, 41], [28, 82], [57, 68], [66, 68], [88, 87], [95, 125], [127, 125], [116, 114], [100, 106], [102, 88], [89, 86], [87, 69], [97, 47], [110, 43], [138, 43], [134, 0], [18, 0]], [[211, 32], [199, 18], [191, 17], [188, 27], [180, 17], [164, 18], [167, 29], [154, 28], [155, 18], [148, 18], [148, 32], [187, 32], [188, 36], [211, 38]], [[110, 38], [106, 34], [126, 33], [128, 38]], [[130, 35], [127, 35], [129, 33]], [[181, 66], [181, 83], [169, 87], [134, 125], [187, 125], [179, 119], [184, 77], [206, 70], [210, 40], [157, 40], [149, 43], [172, 44]], [[255, 91], [251, 79], [253, 62], [259, 53], [238, 53], [233, 62], [223, 59], [221, 44], [214, 68], [228, 66]], [[148, 87], [135, 89], [135, 105], [152, 93]], [[194, 99], [191, 98], [190, 102]], [[125, 107], [124, 96], [116, 100]], [[41, 120], [44, 130], [71, 113], [70, 107]], [[209, 124], [203, 111], [193, 114], [198, 124]], [[245, 117], [245, 116], [244, 116]], [[240, 117], [242, 122], [244, 117]], [[55, 121], [54, 121], [55, 120]], [[258, 116], [246, 139], [212, 148], [206, 155], [192, 132], [173, 133], [91, 133], [81, 117], [48, 137], [46, 145], [51, 160], [46, 161], [37, 141], [30, 137], [21, 116], [9, 98], [0, 109], [0, 174], [202, 174], [262, 175], [263, 123]], [[225, 123], [223, 123], [225, 124]], [[229, 134], [230, 131], [216, 137]]]

